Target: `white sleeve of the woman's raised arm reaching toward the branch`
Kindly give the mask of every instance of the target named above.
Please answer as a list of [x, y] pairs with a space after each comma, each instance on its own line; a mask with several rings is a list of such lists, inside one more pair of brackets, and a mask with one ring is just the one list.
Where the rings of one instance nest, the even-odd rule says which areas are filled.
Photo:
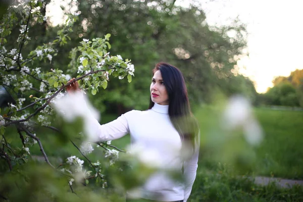
[[[129, 114], [130, 112], [126, 113]], [[127, 115], [123, 114], [116, 120], [100, 125], [99, 122], [90, 118], [86, 120], [86, 133], [90, 140], [93, 141], [108, 141], [123, 137], [129, 133], [129, 126], [127, 122]]]

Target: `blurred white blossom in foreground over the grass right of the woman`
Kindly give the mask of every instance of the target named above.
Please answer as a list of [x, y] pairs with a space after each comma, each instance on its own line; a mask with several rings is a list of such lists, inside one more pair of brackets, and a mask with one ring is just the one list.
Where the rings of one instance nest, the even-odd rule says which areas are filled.
[[223, 114], [223, 125], [227, 130], [241, 128], [249, 144], [259, 144], [263, 139], [262, 128], [252, 114], [252, 106], [241, 95], [235, 95], [228, 100]]

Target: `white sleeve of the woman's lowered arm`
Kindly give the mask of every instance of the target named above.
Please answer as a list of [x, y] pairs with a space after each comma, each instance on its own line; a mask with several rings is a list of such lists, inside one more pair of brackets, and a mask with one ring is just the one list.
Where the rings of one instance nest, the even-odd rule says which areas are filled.
[[187, 201], [191, 189], [192, 189], [192, 185], [193, 182], [195, 180], [196, 177], [196, 172], [197, 172], [197, 168], [198, 168], [198, 157], [199, 157], [199, 146], [200, 146], [200, 138], [199, 135], [200, 131], [198, 132], [198, 137], [197, 137], [197, 142], [195, 145], [195, 151], [194, 154], [191, 156], [190, 159], [188, 159], [187, 161], [184, 161], [183, 163], [183, 168], [184, 168], [184, 178], [185, 178], [185, 187], [184, 187], [184, 202]]

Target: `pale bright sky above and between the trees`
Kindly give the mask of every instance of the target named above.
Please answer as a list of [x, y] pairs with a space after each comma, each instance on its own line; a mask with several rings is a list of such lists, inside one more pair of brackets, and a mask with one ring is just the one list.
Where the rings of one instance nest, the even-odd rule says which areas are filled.
[[[60, 10], [55, 3], [58, 1], [53, 0], [53, 11]], [[176, 5], [186, 6], [190, 1], [177, 0]], [[247, 25], [249, 57], [238, 62], [239, 73], [255, 82], [257, 92], [266, 92], [272, 87], [276, 76], [289, 76], [291, 71], [303, 69], [300, 60], [303, 55], [303, 1], [199, 0], [199, 3], [209, 25], [222, 26], [237, 16]], [[56, 12], [51, 20], [54, 24], [62, 22], [62, 15]]]

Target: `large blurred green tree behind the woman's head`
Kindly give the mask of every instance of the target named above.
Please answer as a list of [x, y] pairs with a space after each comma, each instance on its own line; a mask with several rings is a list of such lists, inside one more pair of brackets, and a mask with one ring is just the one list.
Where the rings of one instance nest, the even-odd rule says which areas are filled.
[[[158, 62], [171, 63], [183, 72], [192, 105], [210, 103], [212, 93], [218, 89], [227, 96], [243, 93], [252, 102], [256, 99], [254, 84], [237, 76], [236, 61], [247, 54], [243, 51], [245, 25], [239, 21], [221, 28], [210, 27], [203, 8], [193, 5], [182, 8], [170, 0], [67, 2], [64, 13], [76, 13], [79, 21], [72, 28], [69, 44], [60, 49], [52, 64], [42, 69], [71, 68], [68, 66], [71, 47], [82, 38], [102, 37], [107, 33], [112, 34], [111, 54], [131, 58], [136, 66], [137, 76], [131, 84], [125, 85], [127, 81], [117, 79], [108, 85], [107, 91], [96, 95], [93, 102], [100, 111], [107, 109], [108, 113], [121, 114], [130, 108], [146, 109], [151, 70]], [[43, 2], [42, 14], [52, 9], [51, 3]], [[29, 31], [29, 37], [34, 39], [31, 45], [56, 37], [58, 29], [60, 25], [53, 27], [49, 19], [42, 26], [34, 25]], [[13, 30], [12, 38], [17, 30]], [[13, 40], [9, 41], [8, 47], [13, 44]], [[26, 54], [27, 50], [23, 52]]]

